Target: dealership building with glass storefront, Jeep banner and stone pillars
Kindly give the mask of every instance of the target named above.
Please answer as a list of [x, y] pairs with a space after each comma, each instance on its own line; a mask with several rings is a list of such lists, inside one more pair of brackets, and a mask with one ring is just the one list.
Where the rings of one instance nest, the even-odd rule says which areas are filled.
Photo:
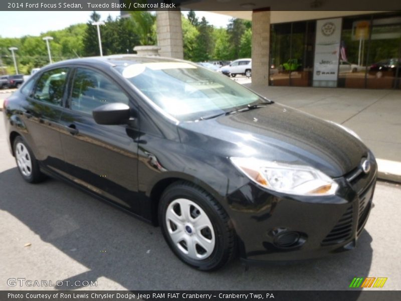
[[[191, 0], [181, 1], [181, 11], [252, 21], [254, 85], [400, 89], [401, 10], [396, 11], [396, 3]], [[378, 5], [388, 11], [377, 11]], [[365, 8], [375, 10], [357, 10]], [[181, 11], [156, 13], [161, 56], [183, 58]]]

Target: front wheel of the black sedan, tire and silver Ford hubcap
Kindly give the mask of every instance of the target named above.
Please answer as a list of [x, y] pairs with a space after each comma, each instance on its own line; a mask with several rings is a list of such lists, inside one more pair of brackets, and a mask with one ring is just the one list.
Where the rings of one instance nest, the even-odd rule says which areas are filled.
[[158, 217], [167, 244], [191, 267], [216, 270], [234, 258], [230, 218], [202, 188], [183, 181], [171, 184], [161, 196]]

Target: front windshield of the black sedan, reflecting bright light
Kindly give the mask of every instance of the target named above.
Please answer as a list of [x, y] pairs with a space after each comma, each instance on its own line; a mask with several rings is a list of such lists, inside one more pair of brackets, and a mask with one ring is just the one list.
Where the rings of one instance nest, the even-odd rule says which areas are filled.
[[199, 120], [266, 102], [228, 77], [190, 63], [153, 62], [116, 68], [179, 121]]

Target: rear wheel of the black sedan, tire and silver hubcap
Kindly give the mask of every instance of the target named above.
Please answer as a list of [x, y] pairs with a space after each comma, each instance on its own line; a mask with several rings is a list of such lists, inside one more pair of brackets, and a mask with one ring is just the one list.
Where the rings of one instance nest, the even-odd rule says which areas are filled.
[[13, 147], [18, 170], [23, 179], [28, 183], [43, 181], [45, 176], [40, 171], [38, 161], [27, 142], [21, 136], [17, 136]]

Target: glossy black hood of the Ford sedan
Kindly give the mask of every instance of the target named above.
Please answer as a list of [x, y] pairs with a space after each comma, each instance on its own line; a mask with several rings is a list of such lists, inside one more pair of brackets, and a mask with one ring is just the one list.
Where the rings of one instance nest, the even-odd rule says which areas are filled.
[[271, 104], [249, 111], [178, 125], [182, 143], [225, 157], [312, 166], [336, 178], [356, 168], [367, 147], [339, 126]]

